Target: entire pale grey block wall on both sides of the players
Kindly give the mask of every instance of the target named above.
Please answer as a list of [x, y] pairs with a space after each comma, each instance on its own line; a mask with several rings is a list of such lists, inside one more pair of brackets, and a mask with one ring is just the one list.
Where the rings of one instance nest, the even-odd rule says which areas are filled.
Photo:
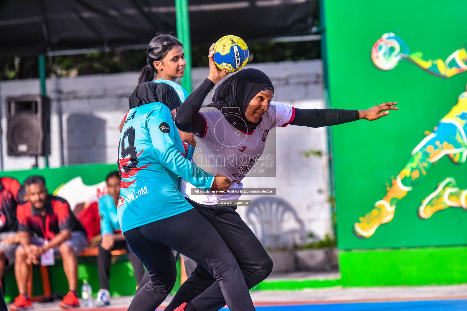
[[[320, 60], [258, 63], [247, 68], [264, 71], [272, 80], [274, 100], [297, 108], [323, 108], [322, 63]], [[192, 70], [193, 89], [208, 75], [208, 68]], [[78, 163], [115, 163], [120, 139], [119, 124], [128, 109], [127, 96], [137, 84], [138, 72], [47, 79], [51, 98], [51, 167]], [[0, 82], [3, 170], [29, 169], [32, 157], [7, 156], [5, 99], [38, 94], [37, 79]], [[212, 98], [206, 97], [205, 104]], [[325, 129], [287, 126], [276, 131], [276, 177], [248, 177], [245, 187], [276, 187], [277, 197], [292, 206], [299, 220], [276, 219], [284, 239], [300, 242], [312, 231], [322, 237], [330, 232], [327, 201], [327, 143]], [[269, 142], [270, 140], [268, 140]], [[320, 158], [306, 158], [304, 151], [323, 152]], [[40, 159], [39, 166], [43, 166]], [[247, 199], [247, 198], [246, 198]], [[255, 197], [248, 198], [255, 200]], [[239, 207], [245, 217], [247, 208]], [[252, 225], [250, 223], [250, 225]], [[297, 233], [298, 232], [298, 233]], [[301, 233], [300, 233], [301, 232]], [[258, 236], [267, 233], [256, 232]]]

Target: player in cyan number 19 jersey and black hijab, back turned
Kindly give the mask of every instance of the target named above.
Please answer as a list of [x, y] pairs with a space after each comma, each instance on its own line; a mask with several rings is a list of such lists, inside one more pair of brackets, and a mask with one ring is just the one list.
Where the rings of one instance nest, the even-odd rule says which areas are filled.
[[[164, 104], [147, 97], [163, 97]], [[130, 249], [149, 272], [149, 282], [128, 310], [154, 311], [172, 290], [175, 249], [193, 258], [219, 281], [230, 310], [255, 310], [245, 279], [212, 225], [178, 191], [179, 176], [201, 189], [219, 191], [230, 181], [213, 177], [184, 158], [186, 149], [171, 111], [181, 104], [166, 83], [142, 83], [129, 100], [130, 110], [118, 148], [120, 199], [118, 217]], [[203, 299], [203, 294], [198, 296]], [[198, 298], [185, 310], [195, 310]], [[185, 305], [183, 306], [185, 307]], [[183, 308], [182, 307], [182, 308]]]

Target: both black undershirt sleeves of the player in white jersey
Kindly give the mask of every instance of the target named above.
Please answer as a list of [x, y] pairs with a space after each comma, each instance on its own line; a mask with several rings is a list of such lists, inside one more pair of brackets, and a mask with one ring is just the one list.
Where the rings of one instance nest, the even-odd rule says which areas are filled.
[[[199, 113], [199, 110], [214, 85], [211, 80], [206, 78], [178, 108], [175, 124], [180, 131], [188, 133], [203, 133], [205, 131], [205, 119]], [[358, 119], [358, 110], [295, 108], [295, 117], [290, 124], [322, 127], [343, 124]]]

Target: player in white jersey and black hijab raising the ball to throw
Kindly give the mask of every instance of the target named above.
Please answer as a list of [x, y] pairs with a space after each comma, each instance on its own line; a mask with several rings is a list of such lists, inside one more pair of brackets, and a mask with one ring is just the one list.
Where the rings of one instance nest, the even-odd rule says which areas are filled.
[[[396, 103], [384, 103], [365, 111], [341, 109], [295, 109], [271, 102], [274, 88], [266, 74], [258, 69], [242, 69], [222, 82], [215, 90], [212, 104], [201, 109], [210, 90], [226, 72], [218, 69], [209, 54], [209, 76], [180, 106], [175, 123], [181, 131], [196, 135], [197, 152], [192, 161], [213, 175], [225, 175], [241, 188], [241, 180], [261, 156], [268, 132], [288, 124], [321, 127], [359, 119], [376, 120], [397, 109]], [[199, 163], [210, 159], [209, 166]], [[235, 159], [240, 160], [239, 163]], [[180, 191], [216, 228], [237, 259], [248, 288], [264, 280], [272, 270], [272, 261], [255, 234], [248, 228], [234, 206], [219, 206], [218, 200], [238, 200], [240, 194], [193, 195], [196, 188], [181, 180]], [[225, 305], [218, 282], [199, 266], [185, 281], [165, 311], [190, 302], [202, 293], [195, 306], [198, 311], [217, 311]], [[199, 307], [198, 307], [199, 306]]]

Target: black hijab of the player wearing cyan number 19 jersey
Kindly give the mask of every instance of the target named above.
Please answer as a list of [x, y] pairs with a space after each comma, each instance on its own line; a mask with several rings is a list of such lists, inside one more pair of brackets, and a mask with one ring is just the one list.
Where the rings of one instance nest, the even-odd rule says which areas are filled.
[[169, 110], [174, 110], [182, 104], [177, 91], [173, 87], [167, 83], [157, 82], [141, 83], [128, 99], [130, 109], [156, 102], [166, 105]]

